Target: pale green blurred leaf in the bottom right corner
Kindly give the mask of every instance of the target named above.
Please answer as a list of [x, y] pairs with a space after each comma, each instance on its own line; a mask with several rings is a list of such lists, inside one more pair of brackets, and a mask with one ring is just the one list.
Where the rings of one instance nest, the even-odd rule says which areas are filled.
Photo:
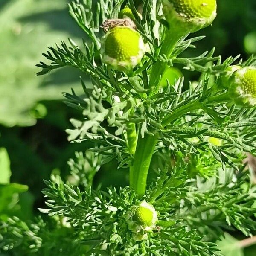
[[244, 256], [243, 248], [240, 247], [239, 240], [228, 233], [225, 238], [217, 242], [218, 249], [224, 256]]

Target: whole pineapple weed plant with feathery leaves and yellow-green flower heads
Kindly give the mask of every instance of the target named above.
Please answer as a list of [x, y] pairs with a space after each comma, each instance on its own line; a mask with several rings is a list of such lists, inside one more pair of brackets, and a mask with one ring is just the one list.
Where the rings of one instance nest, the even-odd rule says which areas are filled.
[[[83, 49], [71, 39], [50, 47], [38, 75], [72, 66], [90, 76], [93, 88], [81, 81], [85, 96], [64, 96], [81, 112], [69, 140], [95, 147], [69, 161], [66, 182], [45, 181], [47, 221], [1, 223], [3, 252], [218, 256], [214, 242], [224, 230], [252, 236], [255, 186], [244, 159], [256, 151], [256, 58], [222, 60], [214, 49], [182, 57], [204, 38], [190, 33], [212, 23], [215, 0], [142, 0], [140, 7], [70, 4], [90, 40]], [[180, 77], [163, 86], [175, 64], [201, 73], [198, 82]], [[113, 159], [129, 169], [129, 186], [94, 188], [94, 175]]]

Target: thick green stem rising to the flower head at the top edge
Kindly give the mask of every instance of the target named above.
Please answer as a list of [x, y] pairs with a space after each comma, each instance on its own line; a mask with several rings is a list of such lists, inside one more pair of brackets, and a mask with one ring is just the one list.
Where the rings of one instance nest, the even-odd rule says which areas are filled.
[[[165, 39], [160, 50], [160, 55], [166, 55], [167, 58], [172, 54], [172, 51], [177, 42], [184, 36], [184, 32], [174, 31], [173, 29], [166, 29]], [[159, 84], [163, 73], [167, 68], [167, 64], [158, 60], [152, 65], [151, 77], [149, 81], [149, 88], [153, 88], [151, 94], [154, 94], [159, 89]]]

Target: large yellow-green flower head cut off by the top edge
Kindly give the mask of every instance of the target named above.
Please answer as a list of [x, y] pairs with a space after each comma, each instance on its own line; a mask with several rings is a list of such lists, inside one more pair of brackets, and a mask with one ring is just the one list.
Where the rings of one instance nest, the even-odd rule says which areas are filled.
[[163, 0], [163, 13], [170, 29], [195, 32], [209, 26], [216, 17], [216, 0]]

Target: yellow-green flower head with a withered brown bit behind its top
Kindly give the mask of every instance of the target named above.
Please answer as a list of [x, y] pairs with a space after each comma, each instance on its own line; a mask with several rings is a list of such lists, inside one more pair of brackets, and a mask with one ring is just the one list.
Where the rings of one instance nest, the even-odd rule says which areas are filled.
[[109, 30], [102, 40], [102, 61], [114, 70], [129, 72], [140, 64], [145, 50], [139, 32], [117, 26]]

